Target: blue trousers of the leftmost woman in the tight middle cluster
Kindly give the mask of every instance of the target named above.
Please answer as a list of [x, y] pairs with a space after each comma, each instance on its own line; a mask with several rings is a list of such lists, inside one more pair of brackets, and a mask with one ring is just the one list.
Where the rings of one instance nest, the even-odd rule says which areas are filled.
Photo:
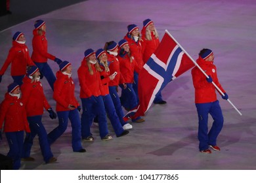
[[[96, 101], [95, 101], [96, 100]], [[91, 125], [93, 124], [93, 118], [98, 117], [98, 129], [100, 131], [100, 138], [108, 135], [108, 124], [106, 120], [106, 110], [104, 107], [102, 96], [81, 98], [83, 113], [81, 115], [81, 137], [83, 139], [92, 135]]]

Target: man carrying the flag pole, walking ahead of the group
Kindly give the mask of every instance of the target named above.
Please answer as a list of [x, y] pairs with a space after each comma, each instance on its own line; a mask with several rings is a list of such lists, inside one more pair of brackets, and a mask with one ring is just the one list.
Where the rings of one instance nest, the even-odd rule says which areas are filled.
[[[220, 88], [221, 92], [224, 93], [223, 99], [228, 99], [228, 95], [223, 90], [219, 80], [217, 78], [217, 69], [213, 64], [213, 52], [209, 49], [203, 49], [199, 53], [199, 58], [197, 59], [198, 65], [203, 69], [203, 71], [209, 76], [206, 78], [202, 71], [198, 67], [192, 69], [192, 78], [195, 88], [195, 103], [196, 109], [198, 111], [198, 140], [199, 140], [199, 150], [205, 154], [210, 154], [209, 146], [213, 150], [221, 150], [217, 146], [217, 137], [223, 128], [223, 113], [221, 111], [221, 106], [217, 100], [217, 95], [215, 93], [215, 86], [211, 82]], [[208, 114], [213, 117], [213, 125], [208, 132]]]

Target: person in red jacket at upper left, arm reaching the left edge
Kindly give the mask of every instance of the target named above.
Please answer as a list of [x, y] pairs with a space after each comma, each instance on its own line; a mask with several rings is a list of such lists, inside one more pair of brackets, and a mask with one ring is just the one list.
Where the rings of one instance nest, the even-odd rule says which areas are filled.
[[17, 84], [22, 85], [22, 79], [26, 75], [28, 65], [35, 65], [30, 58], [28, 46], [25, 44], [24, 33], [16, 32], [12, 37], [12, 48], [0, 71], [0, 82], [8, 66], [11, 64], [11, 76]]

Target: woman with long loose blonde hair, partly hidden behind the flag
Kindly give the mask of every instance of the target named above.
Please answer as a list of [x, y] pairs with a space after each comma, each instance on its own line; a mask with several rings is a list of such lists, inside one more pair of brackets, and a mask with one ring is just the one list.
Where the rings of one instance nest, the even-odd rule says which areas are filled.
[[[143, 21], [143, 28], [141, 30], [142, 36], [142, 57], [144, 63], [148, 61], [150, 56], [156, 51], [158, 45], [160, 44], [158, 31], [154, 26], [154, 22], [150, 19], [146, 19]], [[154, 99], [155, 104], [165, 104], [161, 97], [161, 92], [156, 94], [156, 98]]]

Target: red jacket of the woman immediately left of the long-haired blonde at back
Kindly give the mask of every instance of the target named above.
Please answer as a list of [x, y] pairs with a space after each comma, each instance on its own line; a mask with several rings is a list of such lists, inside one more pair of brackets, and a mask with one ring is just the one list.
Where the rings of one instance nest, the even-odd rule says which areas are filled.
[[142, 59], [142, 41], [134, 41], [128, 33], [124, 39], [128, 41], [131, 53], [137, 61], [139, 68], [142, 69], [144, 65], [144, 61]]

